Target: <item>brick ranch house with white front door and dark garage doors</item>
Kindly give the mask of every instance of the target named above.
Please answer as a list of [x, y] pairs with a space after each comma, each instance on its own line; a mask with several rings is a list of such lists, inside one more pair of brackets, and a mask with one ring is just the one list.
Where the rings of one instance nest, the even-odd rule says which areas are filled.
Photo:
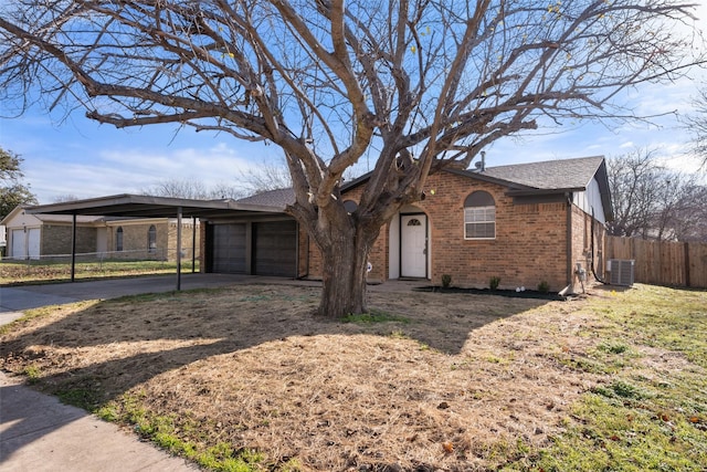
[[[347, 182], [350, 208], [367, 176]], [[273, 208], [202, 219], [205, 272], [319, 279], [321, 258], [304, 229], [284, 213], [292, 189], [235, 203]], [[279, 209], [279, 211], [278, 211]], [[455, 286], [560, 291], [576, 282], [577, 264], [602, 275], [605, 223], [612, 218], [603, 157], [483, 168], [445, 169], [429, 177], [424, 200], [381, 230], [370, 254], [370, 282], [429, 280]]]

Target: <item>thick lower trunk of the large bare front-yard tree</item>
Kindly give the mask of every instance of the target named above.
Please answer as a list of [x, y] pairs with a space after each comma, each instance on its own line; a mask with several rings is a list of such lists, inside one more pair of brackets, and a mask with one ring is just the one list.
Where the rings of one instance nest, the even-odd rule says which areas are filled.
[[358, 229], [354, 234], [341, 234], [321, 250], [323, 286], [321, 301], [317, 314], [328, 318], [339, 318], [349, 314], [366, 313], [366, 275], [368, 255], [374, 235], [363, 234]]

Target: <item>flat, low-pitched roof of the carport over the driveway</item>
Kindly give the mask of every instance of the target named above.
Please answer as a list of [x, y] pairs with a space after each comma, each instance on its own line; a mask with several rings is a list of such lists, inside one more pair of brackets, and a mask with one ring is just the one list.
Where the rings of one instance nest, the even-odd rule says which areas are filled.
[[28, 207], [28, 213], [93, 214], [126, 218], [173, 218], [181, 209], [182, 217], [222, 218], [235, 213], [282, 213], [284, 207], [239, 203], [225, 200], [193, 200], [146, 195], [115, 195], [86, 200]]

